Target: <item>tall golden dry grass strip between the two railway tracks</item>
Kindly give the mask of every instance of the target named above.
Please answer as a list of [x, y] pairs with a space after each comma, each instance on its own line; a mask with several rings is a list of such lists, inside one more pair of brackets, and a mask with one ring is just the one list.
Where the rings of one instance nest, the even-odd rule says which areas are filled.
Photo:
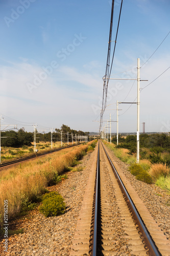
[[84, 155], [91, 143], [65, 148], [50, 157], [3, 170], [0, 173], [0, 227], [4, 220], [4, 200], [8, 200], [8, 218], [16, 216], [23, 201], [36, 201], [48, 184]]

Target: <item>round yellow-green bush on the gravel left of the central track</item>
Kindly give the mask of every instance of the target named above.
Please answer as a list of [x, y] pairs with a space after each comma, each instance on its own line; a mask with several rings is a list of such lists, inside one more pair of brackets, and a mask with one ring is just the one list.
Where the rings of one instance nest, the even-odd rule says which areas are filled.
[[65, 208], [62, 196], [53, 191], [43, 196], [42, 205], [39, 206], [39, 211], [45, 217], [50, 217], [64, 214]]

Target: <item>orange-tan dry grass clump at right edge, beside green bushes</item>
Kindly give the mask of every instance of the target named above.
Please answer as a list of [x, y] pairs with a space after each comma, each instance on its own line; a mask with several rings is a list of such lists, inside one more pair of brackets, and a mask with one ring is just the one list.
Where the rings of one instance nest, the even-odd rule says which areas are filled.
[[169, 175], [169, 167], [167, 167], [166, 164], [162, 163], [152, 164], [149, 174], [156, 181], [161, 176], [166, 177]]

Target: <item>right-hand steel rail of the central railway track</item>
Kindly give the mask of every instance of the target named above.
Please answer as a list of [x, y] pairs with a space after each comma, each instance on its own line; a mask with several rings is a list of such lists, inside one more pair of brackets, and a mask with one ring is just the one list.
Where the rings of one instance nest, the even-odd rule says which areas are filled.
[[[102, 143], [102, 146], [103, 146], [103, 148], [104, 148], [103, 143]], [[125, 185], [124, 185], [124, 183], [123, 183], [122, 180], [120, 179], [120, 177], [119, 177], [119, 175], [118, 175], [118, 173], [117, 173], [117, 170], [116, 170], [116, 168], [114, 167], [114, 165], [113, 165], [113, 163], [112, 163], [112, 161], [111, 161], [109, 155], [107, 154], [105, 148], [104, 148], [104, 151], [105, 151], [106, 156], [107, 156], [107, 158], [108, 158], [108, 160], [109, 160], [109, 162], [110, 162], [110, 165], [111, 165], [111, 167], [112, 167], [112, 169], [113, 169], [114, 175], [115, 175], [115, 177], [116, 177], [116, 179], [117, 179], [117, 181], [118, 181], [118, 184], [119, 184], [119, 186], [120, 186], [120, 189], [122, 190], [122, 192], [123, 192], [123, 194], [124, 194], [124, 196], [125, 196], [125, 198], [126, 198], [126, 202], [127, 202], [128, 206], [129, 206], [130, 210], [131, 210], [132, 213], [133, 213], [133, 216], [134, 216], [134, 219], [135, 219], [136, 223], [137, 223], [138, 226], [139, 226], [139, 229], [140, 229], [140, 231], [141, 231], [141, 233], [142, 233], [142, 236], [143, 236], [143, 238], [144, 238], [144, 242], [145, 242], [145, 244], [147, 245], [147, 247], [148, 247], [148, 249], [149, 249], [149, 251], [150, 251], [150, 254], [151, 254], [152, 256], [160, 256], [160, 255], [162, 255], [162, 254], [159, 252], [159, 250], [158, 250], [157, 246], [155, 245], [154, 241], [152, 240], [149, 231], [148, 231], [147, 228], [145, 227], [145, 225], [144, 225], [144, 223], [143, 223], [143, 221], [142, 221], [142, 219], [141, 219], [141, 217], [140, 217], [140, 215], [139, 215], [139, 213], [138, 213], [138, 211], [137, 211], [137, 209], [136, 209], [136, 207], [135, 207], [135, 205], [134, 205], [134, 203], [133, 203], [133, 201], [132, 201], [132, 199], [131, 199], [131, 197], [130, 197], [130, 195], [129, 195], [129, 193], [128, 193], [128, 191], [127, 191]]]

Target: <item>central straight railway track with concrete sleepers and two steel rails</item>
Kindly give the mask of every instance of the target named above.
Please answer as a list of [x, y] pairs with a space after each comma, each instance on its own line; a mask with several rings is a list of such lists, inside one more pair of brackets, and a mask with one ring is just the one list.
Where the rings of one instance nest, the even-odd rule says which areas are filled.
[[72, 240], [72, 256], [170, 255], [170, 243], [99, 141]]

